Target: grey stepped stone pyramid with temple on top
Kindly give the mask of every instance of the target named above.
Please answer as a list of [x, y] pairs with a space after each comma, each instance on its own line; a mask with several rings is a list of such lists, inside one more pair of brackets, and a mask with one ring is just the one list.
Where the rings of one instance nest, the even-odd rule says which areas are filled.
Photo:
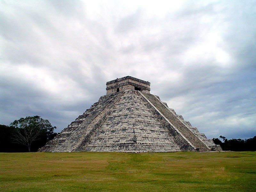
[[107, 82], [101, 96], [39, 151], [221, 151], [181, 115], [131, 76]]

